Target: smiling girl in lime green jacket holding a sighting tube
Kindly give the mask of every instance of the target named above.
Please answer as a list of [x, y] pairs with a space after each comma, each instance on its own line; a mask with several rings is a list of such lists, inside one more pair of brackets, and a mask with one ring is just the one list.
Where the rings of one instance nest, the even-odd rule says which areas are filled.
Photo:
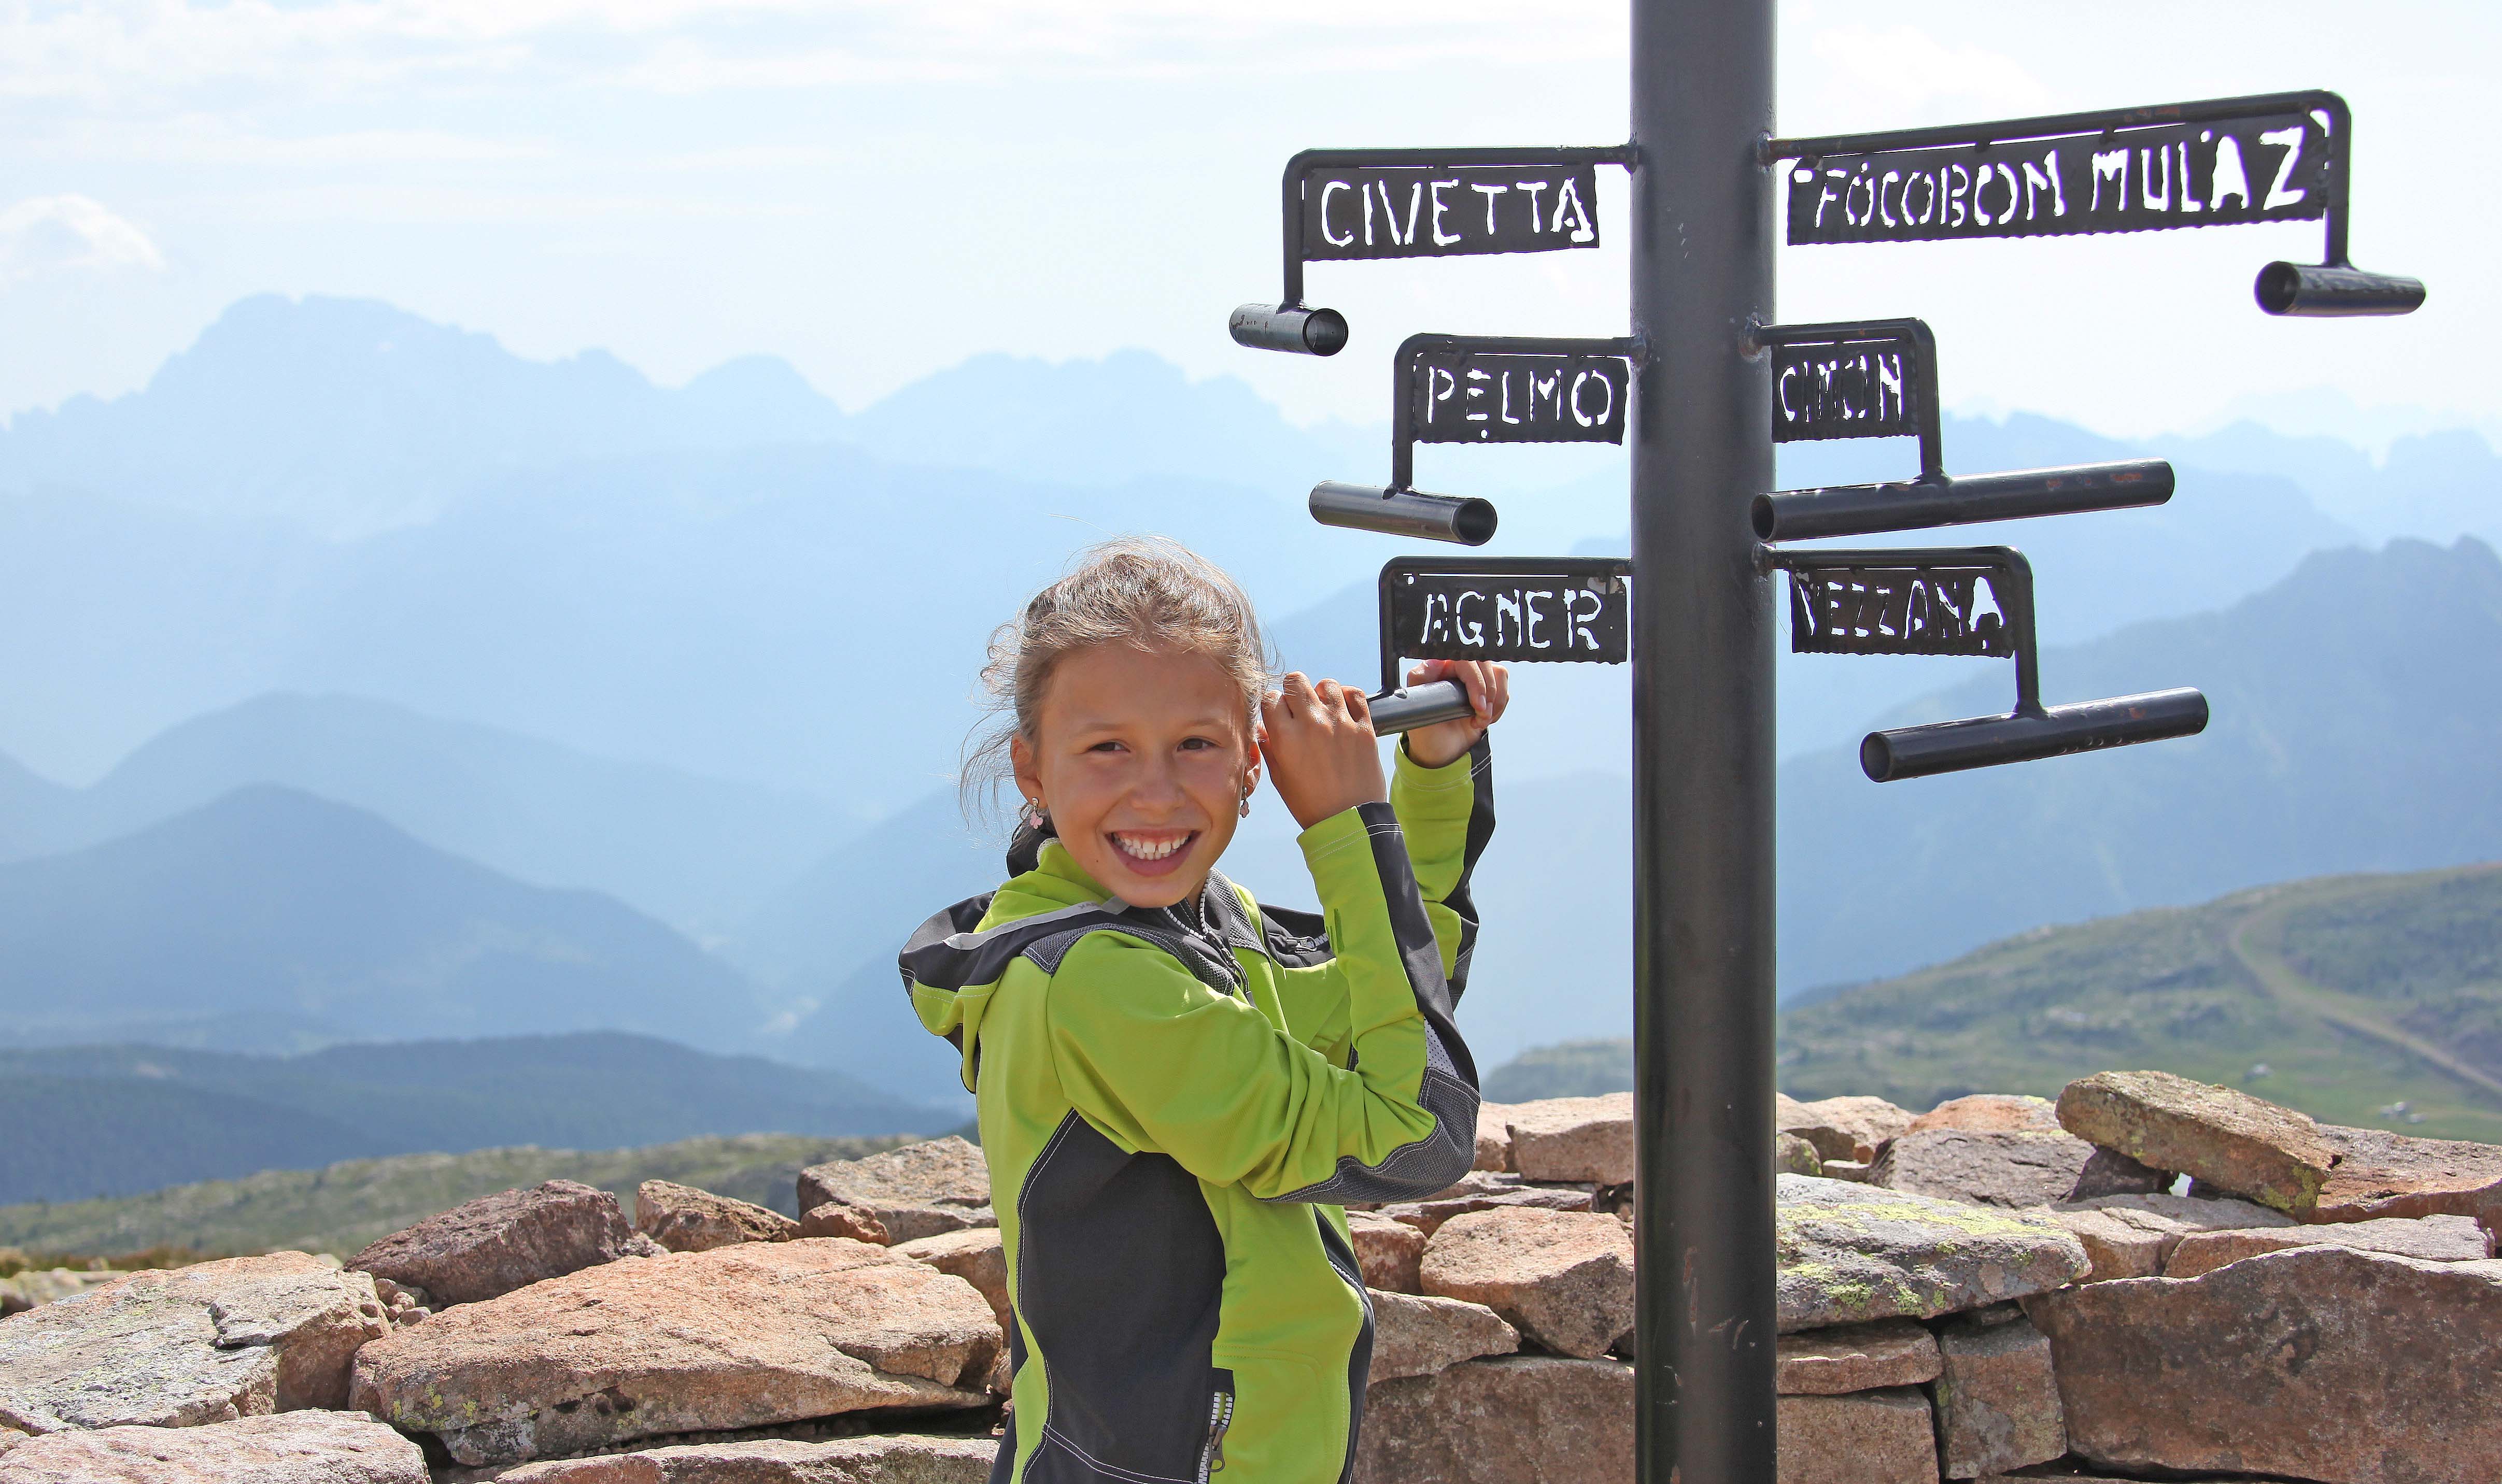
[[[1331, 1484], [1371, 1366], [1346, 1201], [1459, 1181], [1476, 1066], [1451, 1026], [1494, 833], [1499, 666], [1384, 788], [1364, 693], [1266, 691], [1241, 588], [1111, 541], [991, 641], [1023, 826], [1013, 878], [903, 948], [963, 1051], [1016, 1301], [996, 1484]], [[983, 753], [976, 753], [981, 758]], [[1216, 873], [1261, 766], [1321, 913]]]

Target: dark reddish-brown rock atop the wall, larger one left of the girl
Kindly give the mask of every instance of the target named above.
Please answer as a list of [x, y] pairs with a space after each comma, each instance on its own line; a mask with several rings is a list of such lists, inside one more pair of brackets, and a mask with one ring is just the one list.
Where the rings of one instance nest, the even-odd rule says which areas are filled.
[[348, 1269], [475, 1304], [540, 1279], [656, 1251], [618, 1199], [580, 1181], [478, 1196], [375, 1241]]

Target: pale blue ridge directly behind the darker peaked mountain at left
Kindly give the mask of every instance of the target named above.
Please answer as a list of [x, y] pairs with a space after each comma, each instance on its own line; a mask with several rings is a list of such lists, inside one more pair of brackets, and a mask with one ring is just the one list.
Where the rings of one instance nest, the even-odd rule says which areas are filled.
[[[23, 773], [23, 771], [20, 771]], [[538, 886], [590, 886], [718, 933], [861, 821], [791, 791], [620, 763], [353, 696], [260, 696], [185, 721], [83, 791], [35, 781], [0, 858], [108, 841], [248, 783], [368, 808]], [[23, 781], [15, 788], [28, 788]]]

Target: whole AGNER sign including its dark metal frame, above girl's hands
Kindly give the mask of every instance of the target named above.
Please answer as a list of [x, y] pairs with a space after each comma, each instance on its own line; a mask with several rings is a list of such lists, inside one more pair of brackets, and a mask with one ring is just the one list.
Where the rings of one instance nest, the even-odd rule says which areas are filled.
[[1624, 558], [1424, 558], [1381, 568], [1381, 688], [1399, 661], [1621, 666], [1634, 596]]

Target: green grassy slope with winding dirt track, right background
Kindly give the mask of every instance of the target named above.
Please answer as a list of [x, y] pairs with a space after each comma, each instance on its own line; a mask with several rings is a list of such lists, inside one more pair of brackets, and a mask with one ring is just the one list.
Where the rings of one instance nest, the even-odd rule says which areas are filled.
[[[1496, 1069], [1486, 1096], [1614, 1091], [1629, 1061], [1624, 1041], [1549, 1046]], [[2107, 1069], [2502, 1144], [2502, 866], [2324, 876], [2034, 928], [1781, 1016], [1796, 1099], [1927, 1109], [1967, 1091], [2054, 1096]]]

